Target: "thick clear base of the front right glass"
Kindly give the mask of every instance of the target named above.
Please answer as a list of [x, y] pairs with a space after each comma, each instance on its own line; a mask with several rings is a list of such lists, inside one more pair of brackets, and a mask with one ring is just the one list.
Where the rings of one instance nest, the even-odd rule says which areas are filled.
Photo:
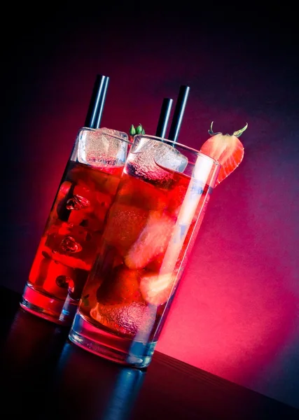
[[120, 365], [147, 367], [151, 363], [157, 342], [137, 342], [112, 332], [99, 330], [77, 314], [69, 332], [69, 339], [77, 346]]

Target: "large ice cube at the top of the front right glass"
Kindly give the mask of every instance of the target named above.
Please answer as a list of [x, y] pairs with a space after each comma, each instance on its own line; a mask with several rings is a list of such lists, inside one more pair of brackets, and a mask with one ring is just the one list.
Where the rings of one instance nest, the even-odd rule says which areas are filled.
[[172, 179], [172, 171], [186, 169], [188, 158], [163, 141], [140, 136], [135, 139], [128, 162], [137, 176], [151, 181], [167, 181]]

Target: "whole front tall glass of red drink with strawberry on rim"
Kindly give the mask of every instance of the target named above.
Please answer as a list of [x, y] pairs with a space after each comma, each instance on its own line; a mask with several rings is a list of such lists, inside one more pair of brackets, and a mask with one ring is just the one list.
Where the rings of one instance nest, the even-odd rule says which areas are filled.
[[134, 137], [71, 342], [123, 365], [151, 363], [219, 169], [182, 144]]

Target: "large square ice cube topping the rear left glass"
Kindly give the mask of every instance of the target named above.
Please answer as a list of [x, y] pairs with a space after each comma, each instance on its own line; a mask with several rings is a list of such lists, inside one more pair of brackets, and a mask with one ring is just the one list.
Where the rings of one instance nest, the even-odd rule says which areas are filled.
[[79, 133], [78, 161], [92, 167], [123, 166], [128, 144], [127, 134], [118, 130], [82, 130]]

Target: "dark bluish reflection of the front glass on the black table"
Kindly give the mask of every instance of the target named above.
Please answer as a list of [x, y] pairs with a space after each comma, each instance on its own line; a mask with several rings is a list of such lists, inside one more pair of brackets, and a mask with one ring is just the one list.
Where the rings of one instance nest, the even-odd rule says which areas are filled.
[[[123, 367], [66, 343], [57, 367], [59, 409], [66, 416], [125, 420], [132, 414], [146, 371]], [[55, 386], [55, 385], [54, 385]]]

